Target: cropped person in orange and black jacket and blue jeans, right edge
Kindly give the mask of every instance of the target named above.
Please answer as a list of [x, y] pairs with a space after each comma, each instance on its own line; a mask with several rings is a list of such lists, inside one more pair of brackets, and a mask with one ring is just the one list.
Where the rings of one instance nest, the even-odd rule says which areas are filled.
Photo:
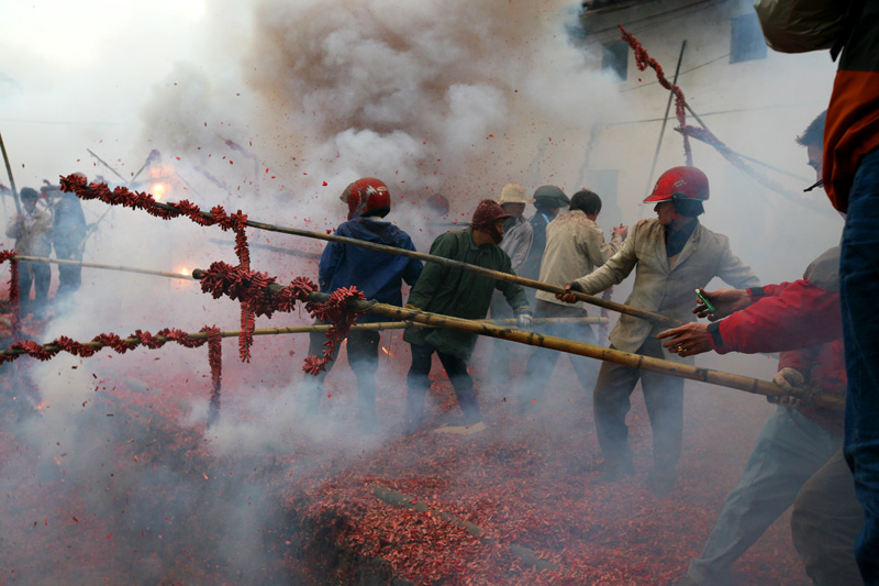
[[839, 55], [822, 175], [833, 207], [847, 214], [839, 262], [848, 372], [844, 451], [865, 509], [858, 565], [865, 582], [879, 584], [879, 2], [759, 3], [764, 35], [774, 48], [831, 48], [834, 59]]

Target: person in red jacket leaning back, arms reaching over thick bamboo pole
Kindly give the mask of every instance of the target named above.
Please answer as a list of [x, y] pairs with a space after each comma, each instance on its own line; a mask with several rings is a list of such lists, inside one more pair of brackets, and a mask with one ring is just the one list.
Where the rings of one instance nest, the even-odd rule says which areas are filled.
[[[822, 141], [823, 114], [798, 139], [819, 177]], [[715, 308], [709, 311], [700, 303], [693, 311], [712, 323], [661, 332], [663, 345], [682, 355], [801, 349], [782, 353], [775, 382], [788, 391], [809, 383], [842, 396], [846, 373], [839, 253], [838, 246], [826, 251], [793, 283], [703, 291]], [[726, 319], [717, 321], [722, 318]], [[842, 443], [842, 423], [839, 413], [782, 400], [764, 428], [742, 482], [727, 497], [703, 553], [690, 562], [677, 585], [711, 584], [724, 575], [792, 502], [791, 532], [806, 574], [817, 584], [859, 583], [853, 548], [860, 528], [859, 506], [850, 475], [846, 478], [838, 462], [834, 464], [842, 452], [837, 447], [835, 455], [828, 454]]]

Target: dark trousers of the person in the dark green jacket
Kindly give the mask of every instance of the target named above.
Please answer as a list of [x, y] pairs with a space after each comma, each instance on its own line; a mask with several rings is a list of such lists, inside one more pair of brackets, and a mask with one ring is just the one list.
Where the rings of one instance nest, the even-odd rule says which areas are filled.
[[464, 411], [465, 422], [471, 425], [481, 421], [482, 414], [479, 412], [474, 379], [467, 373], [467, 363], [457, 356], [439, 352], [430, 344], [410, 344], [410, 346], [412, 349], [412, 366], [405, 377], [409, 387], [405, 396], [407, 427], [410, 430], [418, 429], [424, 417], [424, 403], [427, 400], [427, 389], [431, 388], [430, 374], [434, 352], [439, 356], [439, 362], [446, 369], [452, 388], [455, 389], [458, 405]]

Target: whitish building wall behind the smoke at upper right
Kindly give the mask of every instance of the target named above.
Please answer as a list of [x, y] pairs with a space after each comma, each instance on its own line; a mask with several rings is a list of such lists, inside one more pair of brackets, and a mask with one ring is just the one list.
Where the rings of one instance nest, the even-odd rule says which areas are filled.
[[[670, 80], [686, 41], [678, 85], [690, 107], [727, 146], [793, 176], [752, 165], [785, 191], [776, 194], [731, 166], [713, 147], [691, 140], [693, 164], [711, 181], [703, 223], [727, 234], [761, 280], [774, 283], [799, 278], [813, 257], [838, 242], [842, 220], [823, 191], [802, 192], [815, 178], [805, 165], [805, 150], [794, 143], [826, 108], [835, 66], [826, 52], [783, 55], [771, 49], [765, 58], [730, 63], [733, 19], [747, 14], [754, 14], [750, 1], [642, 2], [587, 12], [578, 42], [589, 56], [587, 67], [599, 71], [602, 45], [620, 38], [616, 24], [622, 23]], [[641, 201], [663, 170], [685, 164], [682, 137], [674, 130], [678, 126], [674, 104], [659, 142], [669, 92], [656, 82], [652, 69], [637, 70], [632, 51], [627, 78], [617, 84], [617, 103], [588, 135], [552, 129], [556, 142], [568, 145], [565, 169], [559, 169], [559, 159], [549, 158], [550, 153], [539, 164], [541, 169], [564, 176], [571, 192], [594, 187], [605, 201], [599, 223], [608, 232], [616, 223], [653, 217], [652, 208]], [[687, 123], [699, 125], [689, 114]], [[578, 150], [581, 156], [576, 156]], [[656, 170], [650, 174], [655, 156]]]

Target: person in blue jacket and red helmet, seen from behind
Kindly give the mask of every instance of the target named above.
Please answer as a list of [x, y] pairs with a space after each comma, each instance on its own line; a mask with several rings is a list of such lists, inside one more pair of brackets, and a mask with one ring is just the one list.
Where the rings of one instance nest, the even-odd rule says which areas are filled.
[[[390, 212], [391, 199], [388, 187], [375, 177], [357, 179], [342, 192], [342, 201], [348, 206], [348, 221], [340, 224], [336, 234], [351, 239], [365, 240], [376, 244], [397, 246], [414, 251], [409, 234], [389, 222], [382, 222]], [[318, 281], [322, 292], [333, 292], [341, 287], [354, 285], [367, 299], [381, 303], [402, 306], [400, 292], [402, 281], [414, 285], [421, 275], [421, 261], [331, 242], [321, 255], [318, 266]], [[357, 318], [358, 323], [381, 321], [380, 316], [365, 313]], [[376, 425], [376, 371], [378, 369], [378, 343], [380, 334], [376, 331], [353, 330], [348, 334], [348, 364], [357, 377], [358, 422], [364, 431]], [[310, 335], [309, 355], [323, 351], [326, 334], [313, 332]], [[305, 386], [305, 411], [313, 413], [323, 394], [323, 379], [334, 363], [315, 377], [309, 377]]]

